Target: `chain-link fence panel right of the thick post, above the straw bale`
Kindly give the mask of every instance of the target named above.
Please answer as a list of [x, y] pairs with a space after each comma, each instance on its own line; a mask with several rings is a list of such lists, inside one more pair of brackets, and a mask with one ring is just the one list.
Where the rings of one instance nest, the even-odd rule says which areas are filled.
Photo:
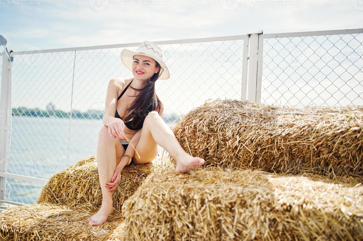
[[363, 104], [363, 33], [263, 38], [261, 102]]

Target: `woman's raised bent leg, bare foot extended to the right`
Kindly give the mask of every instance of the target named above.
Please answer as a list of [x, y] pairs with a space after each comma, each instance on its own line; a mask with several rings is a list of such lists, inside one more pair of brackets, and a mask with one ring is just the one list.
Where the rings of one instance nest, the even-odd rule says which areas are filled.
[[[135, 149], [140, 158], [135, 153], [134, 163], [143, 164], [151, 162], [155, 157], [155, 146], [159, 144], [176, 161], [175, 171], [187, 173], [188, 171], [204, 164], [204, 159], [193, 157], [186, 153], [180, 146], [174, 133], [156, 111], [148, 113], [142, 126], [140, 140]], [[157, 150], [157, 149], [156, 149]]]

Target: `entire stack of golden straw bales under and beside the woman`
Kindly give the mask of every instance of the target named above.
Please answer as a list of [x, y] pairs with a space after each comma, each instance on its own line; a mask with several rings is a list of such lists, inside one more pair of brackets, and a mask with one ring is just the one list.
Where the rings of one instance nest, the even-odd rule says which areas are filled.
[[125, 166], [114, 212], [95, 227], [94, 155], [54, 174], [36, 203], [0, 212], [0, 238], [362, 240], [362, 118], [362, 106], [206, 102], [171, 128], [205, 165], [176, 173], [167, 153]]

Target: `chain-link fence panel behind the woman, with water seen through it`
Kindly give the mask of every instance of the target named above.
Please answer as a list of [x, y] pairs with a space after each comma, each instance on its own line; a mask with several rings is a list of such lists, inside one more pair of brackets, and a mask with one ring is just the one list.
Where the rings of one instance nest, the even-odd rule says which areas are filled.
[[[245, 38], [155, 42], [171, 72], [155, 86], [169, 126], [207, 99], [240, 97]], [[26, 178], [6, 178], [5, 200], [34, 203], [50, 176], [96, 154], [108, 82], [132, 78], [120, 53], [138, 45], [14, 53], [7, 173]]]

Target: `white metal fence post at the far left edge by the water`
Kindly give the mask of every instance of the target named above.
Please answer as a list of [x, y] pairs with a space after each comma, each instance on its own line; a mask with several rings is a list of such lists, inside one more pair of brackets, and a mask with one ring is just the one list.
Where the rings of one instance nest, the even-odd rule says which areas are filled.
[[[6, 172], [7, 157], [11, 123], [11, 72], [12, 65], [7, 54], [3, 53], [3, 71], [1, 76], [1, 96], [0, 96], [0, 172]], [[0, 200], [5, 199], [5, 176], [0, 177]], [[0, 205], [3, 205], [0, 201]]]

